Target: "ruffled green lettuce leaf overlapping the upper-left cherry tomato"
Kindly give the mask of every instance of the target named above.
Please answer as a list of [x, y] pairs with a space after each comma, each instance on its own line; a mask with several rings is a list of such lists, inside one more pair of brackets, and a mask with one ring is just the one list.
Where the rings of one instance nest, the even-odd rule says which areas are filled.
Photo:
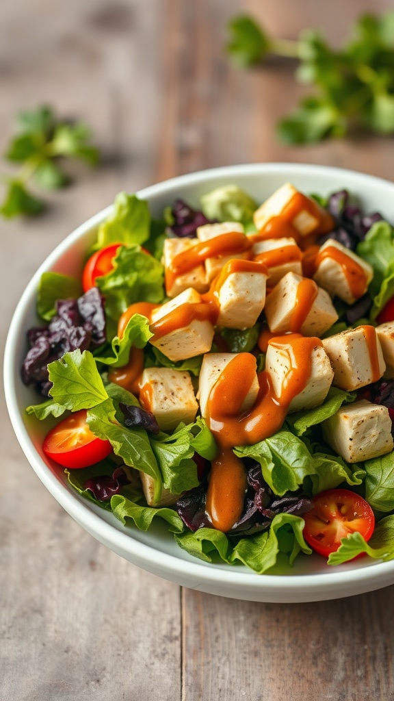
[[164, 268], [140, 246], [122, 246], [114, 260], [115, 267], [107, 275], [96, 278], [105, 297], [105, 312], [114, 321], [134, 302], [158, 303], [163, 300]]

